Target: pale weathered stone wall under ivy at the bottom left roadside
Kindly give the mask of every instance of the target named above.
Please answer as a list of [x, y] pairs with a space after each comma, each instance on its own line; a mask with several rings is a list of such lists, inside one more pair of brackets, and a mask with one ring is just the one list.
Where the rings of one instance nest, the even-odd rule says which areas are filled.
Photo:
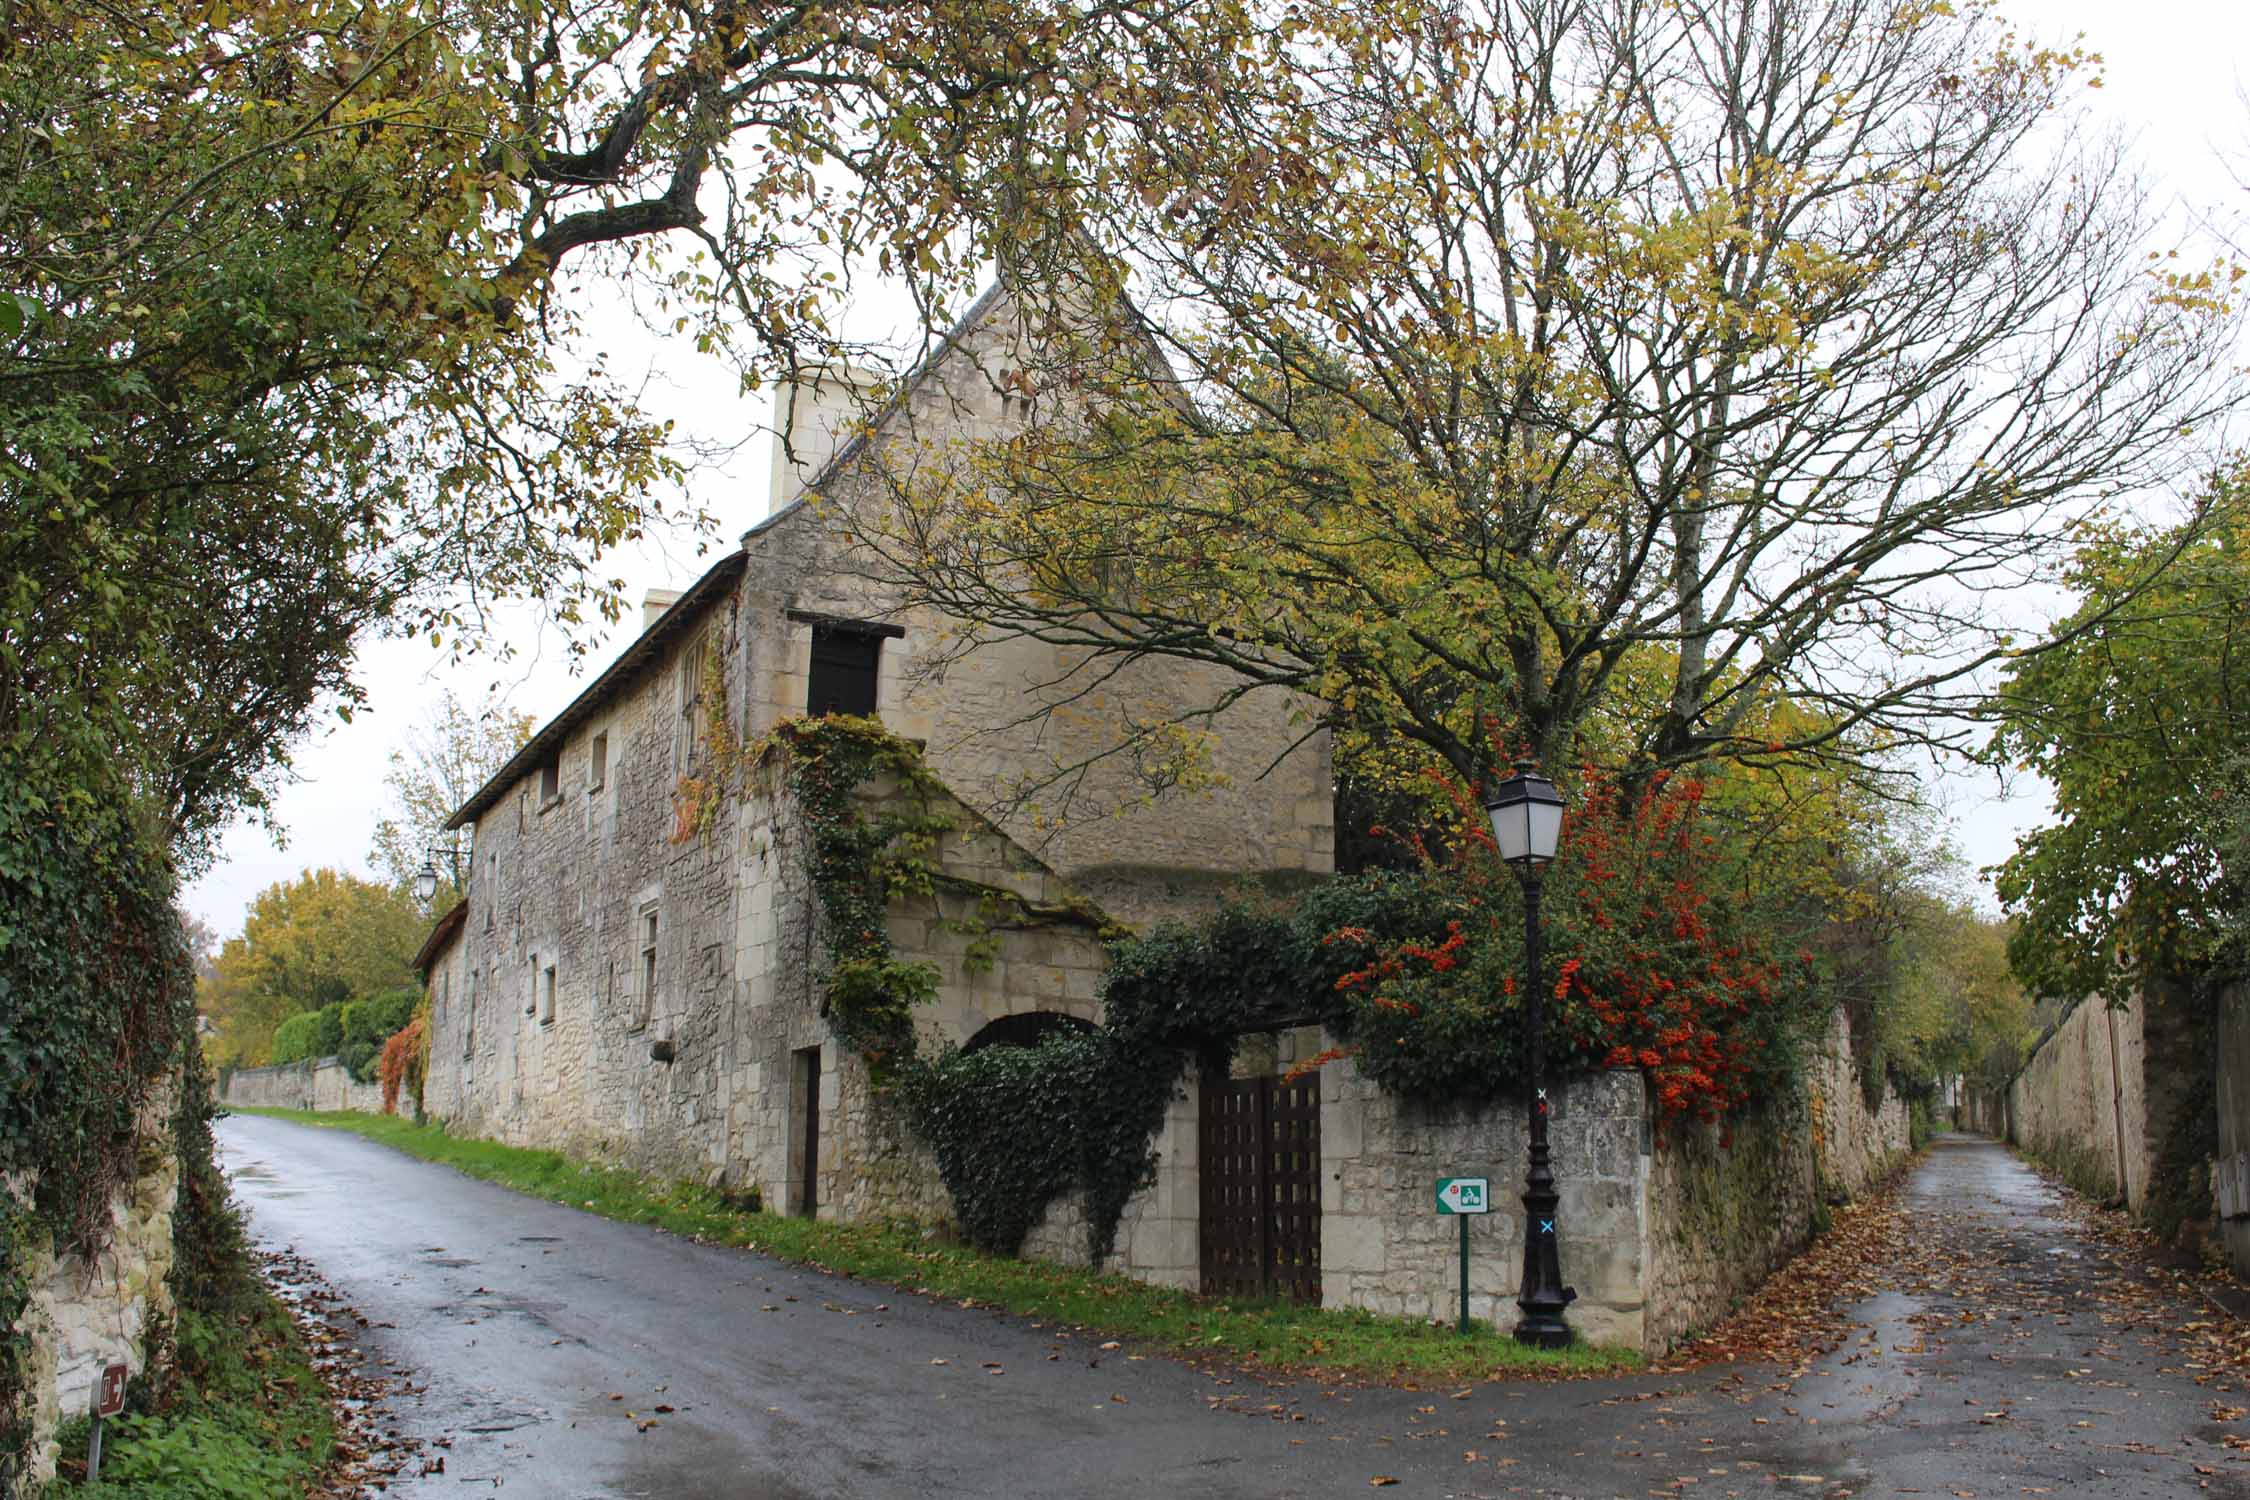
[[[54, 1435], [92, 1408], [101, 1367], [124, 1361], [137, 1381], [151, 1343], [171, 1329], [171, 1210], [180, 1163], [171, 1147], [173, 1086], [158, 1088], [140, 1115], [137, 1176], [110, 1196], [106, 1244], [92, 1257], [32, 1253], [32, 1302], [18, 1325], [29, 1334], [32, 1473], [54, 1478]], [[29, 1194], [29, 1183], [11, 1187]]]

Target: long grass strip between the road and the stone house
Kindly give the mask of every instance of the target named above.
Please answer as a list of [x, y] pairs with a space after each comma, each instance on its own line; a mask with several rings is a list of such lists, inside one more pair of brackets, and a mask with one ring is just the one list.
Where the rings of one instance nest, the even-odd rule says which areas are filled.
[[1433, 1327], [1359, 1309], [1210, 1302], [1123, 1275], [932, 1244], [914, 1226], [821, 1223], [742, 1210], [693, 1183], [659, 1185], [619, 1167], [572, 1160], [560, 1151], [448, 1136], [443, 1127], [412, 1124], [394, 1115], [297, 1109], [236, 1113], [353, 1131], [410, 1156], [605, 1219], [650, 1223], [706, 1244], [740, 1246], [817, 1271], [1096, 1329], [1174, 1354], [1336, 1379], [1413, 1383], [1593, 1376], [1640, 1367], [1640, 1356], [1627, 1349], [1573, 1345], [1541, 1352], [1485, 1325], [1472, 1325], [1472, 1331], [1460, 1336], [1451, 1325]]

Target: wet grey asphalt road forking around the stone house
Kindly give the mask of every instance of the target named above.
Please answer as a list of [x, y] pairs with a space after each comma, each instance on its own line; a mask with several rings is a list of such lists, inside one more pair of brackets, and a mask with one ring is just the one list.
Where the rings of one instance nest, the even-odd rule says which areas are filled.
[[1888, 1289], [1798, 1379], [1721, 1365], [1456, 1397], [1136, 1361], [340, 1131], [236, 1115], [218, 1136], [259, 1241], [369, 1320], [371, 1365], [412, 1372], [387, 1426], [452, 1444], [446, 1473], [410, 1464], [394, 1496], [1357, 1496], [1384, 1475], [1386, 1496], [1462, 1498], [2250, 1500], [2250, 1397], [2196, 1385], [2178, 1336], [2221, 1313], [2151, 1293], [1980, 1138], [1917, 1167]]

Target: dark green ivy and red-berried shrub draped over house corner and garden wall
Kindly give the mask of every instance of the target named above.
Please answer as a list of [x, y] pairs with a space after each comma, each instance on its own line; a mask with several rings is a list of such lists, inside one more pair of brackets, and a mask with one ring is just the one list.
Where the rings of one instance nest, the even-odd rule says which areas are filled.
[[[1152, 1176], [1150, 1140], [1179, 1079], [1224, 1066], [1244, 1032], [1321, 1023], [1341, 1041], [1323, 1061], [1350, 1055], [1404, 1097], [1485, 1104], [1523, 1086], [1521, 895], [1474, 798], [1460, 798], [1444, 859], [1294, 902], [1246, 895], [1145, 938], [1112, 931], [1094, 1032], [925, 1057], [914, 1010], [936, 996], [938, 972], [893, 951], [891, 902], [979, 893], [979, 915], [950, 924], [988, 940], [1001, 895], [940, 868], [952, 798], [875, 720], [788, 720], [745, 751], [718, 729], [713, 740], [722, 760], [785, 765], [810, 830], [828, 1025], [898, 1093], [979, 1248], [1017, 1253], [1046, 1205], [1082, 1187], [1087, 1250], [1105, 1259]], [[875, 778], [900, 796], [862, 798]], [[1580, 778], [1548, 870], [1550, 1075], [1638, 1068], [1665, 1118], [1717, 1122], [1796, 1077], [1818, 992], [1809, 958], [1766, 954], [1708, 897], [1699, 814], [1692, 780], [1658, 776], [1627, 796]], [[1084, 909], [1044, 915], [1098, 922]]]

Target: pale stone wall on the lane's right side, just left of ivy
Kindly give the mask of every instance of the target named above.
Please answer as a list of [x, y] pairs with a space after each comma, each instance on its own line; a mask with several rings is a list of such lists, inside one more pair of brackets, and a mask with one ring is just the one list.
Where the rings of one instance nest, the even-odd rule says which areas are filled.
[[2079, 1190], [2149, 1201], [2144, 1100], [2146, 1007], [2113, 1010], [2102, 996], [2070, 1007], [2007, 1088], [2014, 1140]]

